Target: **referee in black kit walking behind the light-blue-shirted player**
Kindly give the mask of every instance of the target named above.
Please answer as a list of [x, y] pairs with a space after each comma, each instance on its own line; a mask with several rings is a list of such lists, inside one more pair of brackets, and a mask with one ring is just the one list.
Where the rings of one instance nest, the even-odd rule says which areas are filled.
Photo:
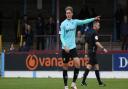
[[105, 84], [100, 79], [99, 64], [96, 58], [97, 47], [101, 48], [105, 53], [107, 52], [107, 50], [99, 42], [99, 39], [98, 39], [99, 29], [100, 29], [100, 23], [99, 21], [95, 21], [93, 22], [92, 29], [89, 29], [88, 31], [85, 32], [85, 40], [86, 40], [86, 44], [88, 45], [87, 47], [88, 47], [89, 62], [83, 74], [83, 80], [81, 82], [82, 86], [83, 85], [87, 86], [87, 83], [85, 82], [85, 80], [88, 76], [89, 71], [92, 69], [92, 67], [95, 68], [95, 75], [98, 80], [99, 86], [105, 86]]

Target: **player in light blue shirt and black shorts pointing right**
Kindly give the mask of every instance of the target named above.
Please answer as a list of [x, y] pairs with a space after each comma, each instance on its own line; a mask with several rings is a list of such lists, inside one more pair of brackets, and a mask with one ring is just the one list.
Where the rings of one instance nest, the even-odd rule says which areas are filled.
[[80, 68], [80, 60], [77, 55], [76, 50], [76, 42], [75, 42], [75, 35], [76, 35], [76, 28], [78, 25], [83, 25], [90, 23], [95, 20], [99, 20], [99, 16], [95, 18], [90, 18], [86, 20], [78, 20], [72, 19], [73, 16], [73, 8], [68, 6], [65, 8], [66, 12], [66, 19], [61, 23], [60, 26], [60, 39], [62, 42], [62, 58], [63, 58], [63, 80], [64, 80], [64, 89], [69, 89], [67, 85], [68, 81], [68, 62], [69, 59], [72, 58], [74, 61], [74, 76], [73, 81], [71, 84], [72, 89], [77, 89], [76, 87], [76, 79], [79, 74]]

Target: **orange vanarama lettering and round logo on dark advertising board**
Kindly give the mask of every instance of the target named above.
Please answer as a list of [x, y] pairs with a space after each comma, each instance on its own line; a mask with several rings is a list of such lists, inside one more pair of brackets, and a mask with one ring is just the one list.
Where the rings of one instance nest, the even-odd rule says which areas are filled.
[[[80, 58], [81, 66], [85, 66], [88, 62], [88, 59]], [[38, 57], [38, 55], [28, 55], [26, 58], [26, 67], [29, 70], [36, 70], [38, 67], [62, 67], [63, 60], [61, 57]], [[68, 63], [69, 67], [73, 67], [73, 61]]]

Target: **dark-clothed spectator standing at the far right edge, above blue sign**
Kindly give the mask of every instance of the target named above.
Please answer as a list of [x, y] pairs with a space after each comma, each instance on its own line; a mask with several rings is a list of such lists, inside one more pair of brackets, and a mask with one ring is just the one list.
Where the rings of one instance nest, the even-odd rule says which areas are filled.
[[122, 50], [128, 49], [128, 17], [124, 15], [124, 21], [121, 24], [121, 34], [122, 34]]

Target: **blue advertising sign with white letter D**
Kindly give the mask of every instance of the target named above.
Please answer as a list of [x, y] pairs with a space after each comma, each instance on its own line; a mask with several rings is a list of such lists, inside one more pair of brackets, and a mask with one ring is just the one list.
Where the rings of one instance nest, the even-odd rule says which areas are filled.
[[114, 71], [128, 71], [128, 53], [113, 54], [112, 60]]

